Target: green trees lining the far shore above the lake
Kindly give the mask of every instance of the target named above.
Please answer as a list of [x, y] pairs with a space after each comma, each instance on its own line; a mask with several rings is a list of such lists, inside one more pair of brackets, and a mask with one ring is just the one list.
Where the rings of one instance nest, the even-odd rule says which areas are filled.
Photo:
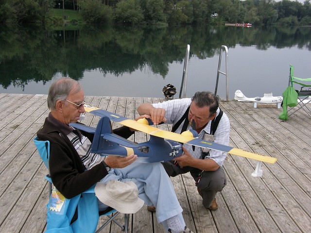
[[311, 25], [310, 0], [0, 0], [0, 23], [44, 23], [49, 9], [63, 6], [86, 23]]

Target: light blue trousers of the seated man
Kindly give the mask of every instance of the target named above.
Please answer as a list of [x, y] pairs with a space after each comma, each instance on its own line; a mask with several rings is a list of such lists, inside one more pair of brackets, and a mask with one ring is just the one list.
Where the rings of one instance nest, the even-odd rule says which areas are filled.
[[134, 162], [124, 168], [114, 168], [101, 182], [107, 183], [109, 180], [136, 183], [138, 197], [144, 200], [146, 205], [155, 206], [156, 219], [166, 230], [168, 227], [165, 220], [176, 215], [185, 225], [181, 214], [183, 210], [177, 200], [174, 186], [161, 163]]

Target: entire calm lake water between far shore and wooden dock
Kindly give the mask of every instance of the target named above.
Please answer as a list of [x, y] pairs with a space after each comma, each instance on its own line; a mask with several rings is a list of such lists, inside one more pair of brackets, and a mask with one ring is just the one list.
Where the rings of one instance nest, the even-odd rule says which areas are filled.
[[[228, 47], [229, 99], [238, 89], [247, 97], [282, 95], [290, 64], [296, 77], [311, 77], [311, 27], [24, 27], [0, 30], [0, 93], [47, 94], [54, 80], [68, 76], [86, 95], [163, 97], [163, 86], [172, 83], [177, 98], [187, 44], [187, 97], [214, 92], [222, 45]], [[225, 72], [225, 53], [222, 64]], [[217, 94], [225, 98], [222, 74]]]

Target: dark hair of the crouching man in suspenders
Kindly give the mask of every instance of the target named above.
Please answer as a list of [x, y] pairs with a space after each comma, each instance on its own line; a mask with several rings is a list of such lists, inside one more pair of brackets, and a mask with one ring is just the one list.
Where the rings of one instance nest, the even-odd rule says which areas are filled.
[[196, 92], [191, 98], [191, 101], [194, 102], [199, 108], [205, 106], [209, 107], [210, 115], [216, 113], [219, 107], [218, 97], [209, 91]]

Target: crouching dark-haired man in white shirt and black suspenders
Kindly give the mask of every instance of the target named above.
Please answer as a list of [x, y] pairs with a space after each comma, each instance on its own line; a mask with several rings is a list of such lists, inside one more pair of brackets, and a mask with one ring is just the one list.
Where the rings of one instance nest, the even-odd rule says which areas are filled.
[[[228, 117], [219, 108], [218, 98], [211, 92], [196, 92], [184, 99], [164, 101], [162, 103], [143, 103], [138, 106], [140, 115], [151, 117], [154, 124], [161, 121], [173, 124], [173, 132], [182, 133], [195, 129], [199, 138], [219, 144], [229, 144], [230, 123]], [[163, 163], [169, 176], [190, 172], [203, 199], [203, 205], [209, 210], [217, 210], [216, 194], [226, 184], [223, 164], [226, 153], [218, 150], [201, 150], [191, 145], [183, 146], [184, 155]], [[155, 211], [148, 206], [148, 210]]]

